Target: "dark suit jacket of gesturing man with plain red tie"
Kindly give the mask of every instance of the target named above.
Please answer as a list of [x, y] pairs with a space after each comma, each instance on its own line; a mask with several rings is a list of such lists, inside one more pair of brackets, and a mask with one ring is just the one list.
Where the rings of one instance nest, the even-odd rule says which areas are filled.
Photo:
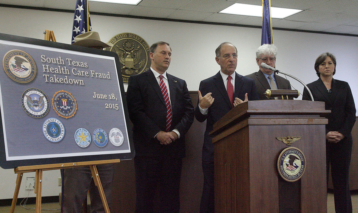
[[[199, 110], [199, 105], [195, 109], [195, 118], [199, 122], [207, 120], [206, 129], [204, 133], [204, 144], [203, 144], [203, 161], [214, 161], [214, 145], [212, 144], [212, 136], [209, 136], [209, 132], [213, 130], [213, 124], [228, 113], [232, 108], [233, 104], [230, 103], [229, 96], [225, 89], [223, 79], [220, 71], [205, 80], [200, 82], [199, 90], [202, 95], [212, 93], [214, 98], [213, 104], [208, 109], [208, 114], [203, 115]], [[235, 76], [235, 89], [234, 97], [245, 99], [245, 93], [247, 93], [248, 100], [258, 100], [255, 82], [245, 76], [236, 73]]]

